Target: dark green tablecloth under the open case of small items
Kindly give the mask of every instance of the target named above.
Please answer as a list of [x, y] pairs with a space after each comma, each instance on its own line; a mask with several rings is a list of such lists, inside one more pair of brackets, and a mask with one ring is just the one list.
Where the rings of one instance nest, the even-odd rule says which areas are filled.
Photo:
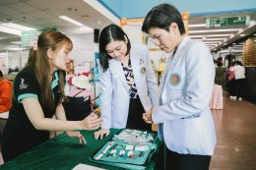
[[[118, 131], [118, 129], [111, 129], [111, 133], [107, 138], [97, 141], [94, 138], [94, 131], [81, 131], [88, 142], [87, 144], [80, 144], [77, 139], [71, 139], [66, 134], [62, 134], [47, 142], [41, 143], [12, 161], [5, 163], [0, 166], [0, 169], [70, 170], [79, 163], [109, 170], [122, 169], [94, 163], [89, 160], [90, 156]], [[147, 169], [154, 169], [155, 163], [154, 159], [152, 159]]]

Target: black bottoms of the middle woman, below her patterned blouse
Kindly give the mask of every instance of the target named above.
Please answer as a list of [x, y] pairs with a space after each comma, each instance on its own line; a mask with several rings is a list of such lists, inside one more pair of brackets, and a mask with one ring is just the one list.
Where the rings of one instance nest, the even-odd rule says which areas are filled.
[[130, 99], [126, 128], [152, 131], [152, 125], [146, 124], [142, 119], [143, 113], [145, 113], [145, 110], [139, 96], [137, 98]]

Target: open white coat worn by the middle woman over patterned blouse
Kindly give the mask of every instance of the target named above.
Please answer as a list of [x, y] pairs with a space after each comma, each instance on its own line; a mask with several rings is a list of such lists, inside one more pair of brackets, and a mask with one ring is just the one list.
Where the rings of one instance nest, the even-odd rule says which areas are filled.
[[[132, 45], [130, 59], [134, 74], [134, 80], [139, 97], [145, 111], [148, 111], [158, 103], [158, 84], [149, 52], [146, 46]], [[120, 61], [109, 60], [109, 68], [102, 72], [99, 69], [99, 82], [101, 87], [101, 128], [125, 128], [129, 111], [129, 88]], [[142, 69], [146, 73], [142, 73]]]

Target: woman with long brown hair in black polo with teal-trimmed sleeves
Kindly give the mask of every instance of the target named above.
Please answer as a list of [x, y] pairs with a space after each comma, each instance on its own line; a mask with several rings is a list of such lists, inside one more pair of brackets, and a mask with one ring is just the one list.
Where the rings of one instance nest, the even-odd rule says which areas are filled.
[[[1, 142], [4, 161], [9, 161], [49, 139], [49, 131], [65, 131], [85, 142], [80, 132], [96, 130], [100, 119], [95, 113], [82, 121], [67, 121], [62, 106], [66, 63], [72, 41], [59, 31], [45, 31], [30, 52], [30, 62], [14, 81], [13, 105]], [[56, 119], [52, 119], [55, 114]]]

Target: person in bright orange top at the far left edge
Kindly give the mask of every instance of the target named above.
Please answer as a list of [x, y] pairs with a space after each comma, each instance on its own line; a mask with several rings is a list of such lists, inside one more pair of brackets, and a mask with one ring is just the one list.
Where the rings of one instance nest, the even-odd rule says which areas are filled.
[[9, 111], [12, 104], [12, 83], [3, 79], [3, 72], [0, 70], [0, 113]]

